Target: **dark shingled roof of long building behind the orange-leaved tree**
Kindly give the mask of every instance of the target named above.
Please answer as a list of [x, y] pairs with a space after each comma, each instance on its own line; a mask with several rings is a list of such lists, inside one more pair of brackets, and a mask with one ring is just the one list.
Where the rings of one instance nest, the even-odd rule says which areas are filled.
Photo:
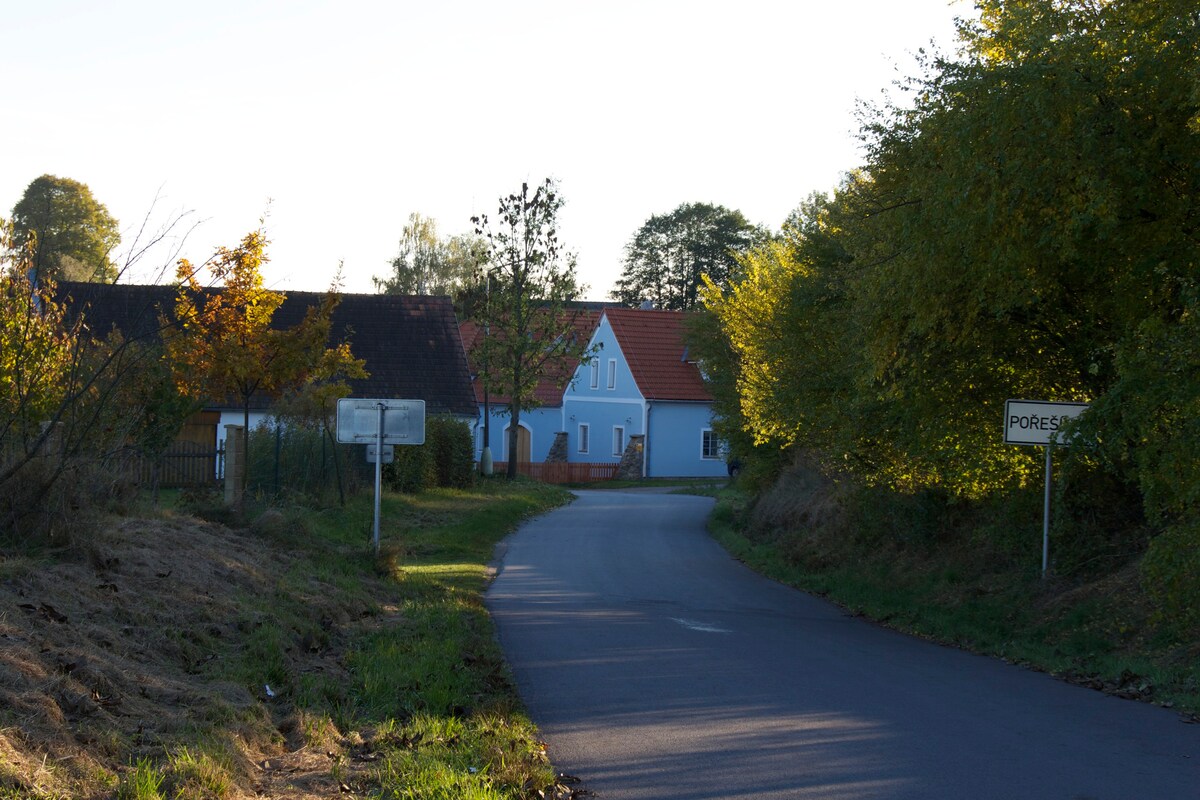
[[[126, 338], [157, 336], [160, 309], [169, 315], [175, 288], [103, 283], [59, 284], [71, 313], [83, 313], [94, 336], [116, 327]], [[272, 327], [287, 329], [324, 296], [284, 291], [287, 299]], [[366, 361], [370, 378], [350, 380], [353, 397], [424, 399], [428, 414], [476, 415], [467, 355], [449, 297], [343, 294], [334, 311], [329, 343], [349, 339], [354, 355]], [[254, 408], [266, 408], [258, 398]]]

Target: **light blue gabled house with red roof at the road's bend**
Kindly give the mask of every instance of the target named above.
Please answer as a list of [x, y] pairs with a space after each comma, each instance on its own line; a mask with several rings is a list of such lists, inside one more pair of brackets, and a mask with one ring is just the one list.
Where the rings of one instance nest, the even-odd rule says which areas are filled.
[[[646, 477], [720, 477], [713, 397], [684, 341], [686, 314], [606, 308], [592, 337], [596, 355], [575, 372], [562, 402], [571, 462], [619, 462], [642, 437]], [[636, 440], [635, 440], [636, 444]]]

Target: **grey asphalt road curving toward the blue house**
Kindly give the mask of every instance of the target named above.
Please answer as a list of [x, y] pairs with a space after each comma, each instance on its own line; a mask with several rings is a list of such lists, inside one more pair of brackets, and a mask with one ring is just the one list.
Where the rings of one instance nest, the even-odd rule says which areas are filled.
[[601, 800], [1200, 799], [1200, 726], [754, 575], [706, 498], [580, 492], [487, 603], [557, 768]]

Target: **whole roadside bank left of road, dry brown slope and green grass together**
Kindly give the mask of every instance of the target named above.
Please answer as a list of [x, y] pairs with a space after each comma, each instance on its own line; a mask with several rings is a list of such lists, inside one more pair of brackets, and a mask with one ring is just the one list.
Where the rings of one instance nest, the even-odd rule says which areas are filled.
[[379, 558], [368, 495], [242, 530], [161, 511], [5, 558], [0, 798], [542, 796], [482, 591], [496, 542], [566, 499], [388, 495]]

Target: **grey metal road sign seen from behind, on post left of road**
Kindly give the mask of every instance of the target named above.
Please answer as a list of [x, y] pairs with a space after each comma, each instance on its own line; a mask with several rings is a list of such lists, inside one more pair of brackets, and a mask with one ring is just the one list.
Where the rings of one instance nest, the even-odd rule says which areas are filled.
[[386, 445], [425, 444], [425, 401], [361, 399], [343, 397], [337, 401], [337, 441], [367, 445], [367, 459], [374, 450], [376, 501], [373, 541], [379, 554], [379, 510], [383, 499], [383, 464], [388, 458]]

